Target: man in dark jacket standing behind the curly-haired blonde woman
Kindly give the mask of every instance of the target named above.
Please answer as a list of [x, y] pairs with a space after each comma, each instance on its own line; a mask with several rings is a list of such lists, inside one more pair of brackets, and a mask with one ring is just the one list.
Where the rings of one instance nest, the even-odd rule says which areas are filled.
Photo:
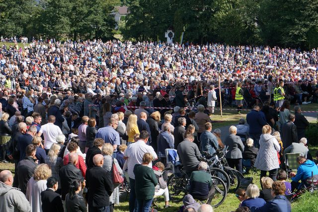
[[35, 162], [35, 145], [29, 144], [24, 151], [26, 152], [26, 157], [17, 164], [15, 169], [16, 176], [14, 176], [14, 178], [18, 180], [18, 188], [21, 189], [23, 194], [26, 193], [28, 181], [33, 176], [34, 169], [38, 165], [38, 163]]

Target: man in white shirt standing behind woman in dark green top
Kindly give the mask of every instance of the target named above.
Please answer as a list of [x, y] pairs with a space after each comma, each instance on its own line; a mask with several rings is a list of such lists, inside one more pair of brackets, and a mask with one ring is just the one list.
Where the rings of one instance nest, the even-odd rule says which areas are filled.
[[[142, 164], [143, 156], [145, 153], [149, 152], [153, 155], [154, 160], [158, 159], [158, 156], [154, 150], [154, 148], [150, 145], [147, 145], [149, 139], [149, 133], [147, 131], [140, 132], [139, 140], [130, 144], [126, 151], [124, 152], [124, 158], [128, 159], [128, 175], [130, 182], [130, 197], [129, 197], [129, 211], [134, 212], [135, 209], [135, 175], [134, 175], [134, 167], [136, 164]], [[149, 163], [148, 167], [152, 168], [153, 164]]]

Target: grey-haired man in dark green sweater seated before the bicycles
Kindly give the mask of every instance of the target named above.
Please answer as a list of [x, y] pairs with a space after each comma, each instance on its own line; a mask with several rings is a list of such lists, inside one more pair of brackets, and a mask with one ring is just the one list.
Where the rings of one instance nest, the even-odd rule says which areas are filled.
[[215, 189], [212, 186], [211, 175], [207, 173], [208, 164], [206, 162], [200, 162], [198, 171], [193, 171], [190, 176], [189, 194], [194, 199], [208, 200], [208, 204], [211, 203], [215, 194]]

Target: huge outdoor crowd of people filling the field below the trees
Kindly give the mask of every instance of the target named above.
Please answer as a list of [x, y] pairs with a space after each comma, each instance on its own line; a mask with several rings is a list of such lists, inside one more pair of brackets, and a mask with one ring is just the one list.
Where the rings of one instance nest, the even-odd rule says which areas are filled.
[[[201, 153], [225, 145], [231, 167], [243, 173], [242, 160], [250, 159], [261, 170], [263, 190], [252, 184], [238, 190], [237, 211], [290, 212], [284, 195], [306, 184], [312, 172], [318, 176], [300, 106], [318, 101], [315, 49], [23, 43], [0, 49], [0, 161], [15, 164], [14, 177], [0, 172], [0, 211], [112, 212], [120, 204], [114, 179], [121, 177], [130, 186], [130, 212], [150, 211], [159, 196], [168, 208], [162, 177], [167, 148], [177, 149], [190, 178], [191, 197], [181, 212], [213, 211], [192, 200], [213, 201]], [[238, 113], [251, 109], [246, 124], [239, 120], [223, 141], [212, 121], [221, 104], [236, 105]], [[301, 153], [300, 170], [290, 173], [288, 185], [280, 168], [291, 152]]]

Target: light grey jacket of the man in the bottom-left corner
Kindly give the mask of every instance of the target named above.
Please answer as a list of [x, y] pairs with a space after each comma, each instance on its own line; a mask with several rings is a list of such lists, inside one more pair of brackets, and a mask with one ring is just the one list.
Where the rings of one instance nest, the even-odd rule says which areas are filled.
[[30, 204], [20, 189], [0, 182], [0, 212], [30, 211]]

